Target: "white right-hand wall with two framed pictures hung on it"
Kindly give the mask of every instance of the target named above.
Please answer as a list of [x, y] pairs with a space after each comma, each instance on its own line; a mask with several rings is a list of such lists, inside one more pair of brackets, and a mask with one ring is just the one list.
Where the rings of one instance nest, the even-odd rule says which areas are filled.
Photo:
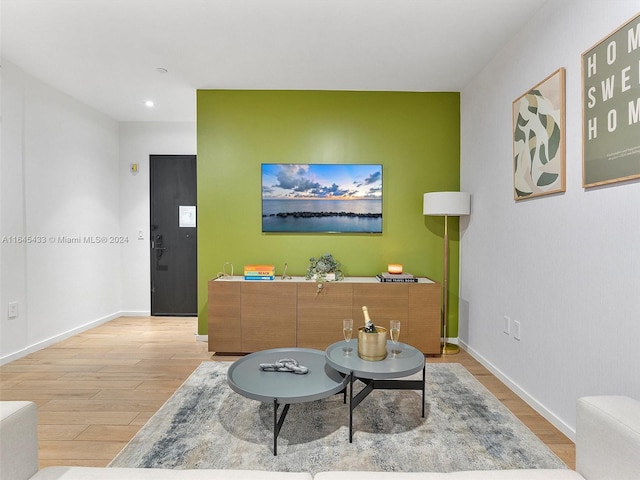
[[[461, 92], [460, 341], [572, 438], [578, 397], [640, 399], [640, 182], [583, 189], [581, 133], [581, 55], [639, 12], [550, 0]], [[566, 192], [516, 203], [512, 102], [560, 67]]]

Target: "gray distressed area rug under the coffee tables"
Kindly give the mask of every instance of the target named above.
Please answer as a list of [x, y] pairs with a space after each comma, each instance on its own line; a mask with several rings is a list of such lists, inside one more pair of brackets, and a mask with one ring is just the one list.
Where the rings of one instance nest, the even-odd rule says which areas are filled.
[[109, 466], [312, 474], [567, 468], [459, 364], [427, 364], [425, 418], [419, 391], [372, 392], [354, 412], [351, 444], [342, 395], [292, 404], [274, 456], [273, 405], [232, 391], [229, 365], [202, 363]]

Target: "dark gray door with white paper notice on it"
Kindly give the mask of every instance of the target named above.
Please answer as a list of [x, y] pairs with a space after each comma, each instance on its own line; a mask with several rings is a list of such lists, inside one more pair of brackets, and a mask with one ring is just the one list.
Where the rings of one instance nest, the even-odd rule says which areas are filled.
[[198, 312], [196, 157], [151, 155], [151, 315]]

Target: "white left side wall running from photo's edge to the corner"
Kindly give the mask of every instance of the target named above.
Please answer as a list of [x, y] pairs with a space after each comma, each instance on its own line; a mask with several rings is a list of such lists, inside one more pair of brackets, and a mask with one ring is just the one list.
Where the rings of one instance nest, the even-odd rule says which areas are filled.
[[118, 124], [7, 61], [2, 99], [4, 362], [113, 318], [121, 286], [120, 247], [92, 243], [120, 235]]

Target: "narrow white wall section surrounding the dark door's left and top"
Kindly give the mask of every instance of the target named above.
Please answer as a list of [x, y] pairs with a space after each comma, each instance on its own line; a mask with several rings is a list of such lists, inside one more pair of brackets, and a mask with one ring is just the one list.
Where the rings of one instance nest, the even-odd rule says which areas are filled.
[[[127, 122], [120, 124], [120, 218], [129, 242], [122, 248], [122, 310], [149, 315], [149, 155], [195, 155], [195, 122]], [[130, 165], [138, 164], [138, 173]], [[143, 239], [138, 239], [142, 230]]]

